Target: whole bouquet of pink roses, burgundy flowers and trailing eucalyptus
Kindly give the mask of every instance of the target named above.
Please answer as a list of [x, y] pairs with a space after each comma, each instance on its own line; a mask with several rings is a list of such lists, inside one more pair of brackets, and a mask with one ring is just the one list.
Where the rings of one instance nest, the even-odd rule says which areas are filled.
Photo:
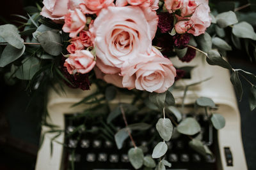
[[[0, 66], [6, 71], [6, 81], [13, 84], [17, 79], [29, 80], [28, 87], [33, 91], [46, 88], [46, 85], [56, 89], [56, 82], [60, 87], [65, 82], [68, 87], [82, 90], [90, 90], [95, 84], [97, 92], [81, 101], [93, 106], [108, 105], [117, 92], [134, 96], [131, 104], [119, 104], [117, 112], [108, 107], [108, 122], [119, 114], [125, 118], [127, 108], [138, 104], [140, 108], [147, 108], [146, 111], [170, 111], [172, 121], [164, 115], [156, 124], [157, 132], [164, 139], [152, 152], [154, 159], [160, 158], [157, 169], [170, 165], [164, 160], [164, 154], [165, 141], [172, 136], [173, 121], [175, 131], [181, 134], [195, 136], [200, 132], [194, 118], [182, 120], [182, 111], [175, 108], [172, 95], [175, 82], [189, 74], [193, 67], [175, 66], [174, 57], [190, 62], [196, 53], [202, 53], [208, 64], [229, 69], [230, 80], [240, 99], [243, 88], [239, 76], [245, 78], [252, 85], [251, 110], [256, 107], [256, 76], [232, 68], [222, 57], [232, 50], [228, 43], [241, 48], [241, 39], [246, 39], [246, 49], [250, 49], [256, 40], [252, 25], [238, 20], [234, 10], [211, 13], [207, 0], [44, 0], [43, 4], [43, 8], [39, 5], [28, 8], [28, 18], [21, 17], [28, 21], [20, 26], [24, 31], [19, 32], [11, 24], [0, 26], [0, 43], [5, 45], [3, 52], [1, 50]], [[251, 55], [250, 50], [248, 54]], [[253, 55], [255, 57], [255, 53]], [[188, 87], [184, 89], [184, 97], [186, 89]], [[104, 97], [99, 98], [99, 95]], [[207, 97], [198, 98], [196, 106], [206, 111], [216, 109]], [[212, 114], [208, 118], [216, 129], [225, 125], [221, 115], [214, 117]], [[216, 125], [216, 122], [222, 124]], [[193, 129], [193, 133], [180, 130], [179, 125], [186, 124], [188, 127], [191, 124], [187, 130]], [[116, 134], [131, 134], [131, 128], [126, 126], [127, 131]], [[118, 135], [115, 141], [118, 148], [122, 148], [126, 138], [122, 141], [116, 138]], [[198, 139], [192, 139], [189, 145], [202, 155], [212, 154]], [[144, 155], [136, 145], [128, 155], [135, 169], [143, 166]], [[148, 167], [156, 166], [151, 157], [147, 160], [154, 165]]]

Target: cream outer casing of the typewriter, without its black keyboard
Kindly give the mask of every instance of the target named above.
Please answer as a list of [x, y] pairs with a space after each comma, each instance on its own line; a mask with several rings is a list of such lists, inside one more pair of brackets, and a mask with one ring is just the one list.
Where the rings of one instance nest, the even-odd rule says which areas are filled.
[[[220, 157], [217, 157], [218, 169], [220, 170], [246, 170], [246, 160], [244, 157], [243, 143], [241, 139], [241, 121], [240, 114], [237, 108], [236, 95], [234, 88], [230, 83], [230, 73], [227, 69], [223, 69], [218, 66], [209, 66], [205, 57], [197, 55], [189, 64], [184, 64], [179, 59], [172, 59], [175, 66], [196, 66], [191, 71], [191, 79], [180, 80], [179, 85], [186, 86], [191, 83], [205, 80], [211, 77], [210, 80], [200, 83], [194, 87], [189, 88], [185, 104], [195, 103], [195, 99], [200, 96], [210, 97], [214, 103], [218, 104], [218, 113], [223, 115], [226, 120], [226, 125], [223, 129], [218, 131], [218, 146]], [[47, 110], [51, 117], [49, 120], [52, 124], [58, 125], [60, 129], [65, 129], [65, 117], [67, 113], [77, 113], [83, 111], [86, 106], [83, 104], [70, 107], [83, 97], [88, 96], [93, 92], [95, 87], [92, 87], [90, 91], [83, 91], [79, 89], [66, 88], [65, 93], [58, 95], [54, 90], [49, 90], [49, 101], [47, 104]], [[180, 103], [182, 100], [184, 91], [175, 90], [173, 96], [175, 96], [176, 103]], [[122, 99], [122, 102], [125, 99]], [[129, 101], [129, 99], [127, 99]], [[117, 103], [117, 101], [116, 101]], [[87, 106], [88, 107], [88, 106]], [[42, 134], [48, 131], [49, 127], [42, 127]], [[36, 170], [61, 170], [63, 169], [63, 146], [59, 143], [64, 143], [64, 134], [62, 133], [56, 141], [53, 142], [53, 152], [51, 156], [51, 138], [54, 134], [46, 134], [42, 148], [38, 151], [38, 157], [36, 160]], [[224, 148], [230, 148], [232, 152], [233, 166], [227, 166], [225, 150]]]

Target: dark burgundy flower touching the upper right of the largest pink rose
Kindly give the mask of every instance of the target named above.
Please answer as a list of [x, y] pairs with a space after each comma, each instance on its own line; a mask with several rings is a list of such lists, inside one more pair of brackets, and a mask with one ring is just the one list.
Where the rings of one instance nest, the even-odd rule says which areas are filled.
[[159, 20], [158, 20], [157, 27], [159, 27], [160, 31], [162, 33], [171, 31], [173, 28], [173, 15], [170, 14], [169, 12], [165, 12], [165, 13], [159, 13], [158, 17], [159, 17]]

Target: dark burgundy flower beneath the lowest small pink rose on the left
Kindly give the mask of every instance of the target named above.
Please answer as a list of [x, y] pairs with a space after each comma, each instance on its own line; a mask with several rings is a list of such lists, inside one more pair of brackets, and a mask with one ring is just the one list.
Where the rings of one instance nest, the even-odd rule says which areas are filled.
[[91, 86], [91, 82], [89, 80], [89, 74], [69, 74], [67, 71], [67, 67], [64, 67], [64, 62], [65, 62], [65, 57], [62, 57], [61, 59], [61, 71], [63, 73], [63, 75], [65, 76], [65, 78], [67, 78], [68, 81], [70, 81], [70, 83], [72, 83], [72, 85], [70, 85], [70, 83], [68, 83], [67, 81], [63, 80], [65, 82], [65, 84], [72, 88], [72, 89], [82, 89], [82, 90], [90, 90], [90, 86]]

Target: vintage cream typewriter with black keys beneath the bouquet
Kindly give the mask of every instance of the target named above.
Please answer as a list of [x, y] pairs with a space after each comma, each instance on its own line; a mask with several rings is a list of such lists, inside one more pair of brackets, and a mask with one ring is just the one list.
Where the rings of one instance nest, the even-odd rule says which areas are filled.
[[[243, 143], [241, 139], [241, 123], [239, 110], [237, 108], [236, 96], [232, 84], [229, 81], [230, 73], [226, 69], [218, 66], [207, 66], [202, 56], [198, 55], [188, 64], [188, 66], [196, 66], [191, 71], [190, 78], [179, 82], [180, 87], [188, 84], [205, 80], [195, 87], [191, 87], [186, 96], [186, 115], [191, 116], [191, 104], [195, 103], [196, 97], [210, 97], [214, 103], [218, 105], [218, 113], [223, 115], [226, 125], [223, 129], [216, 131], [211, 125], [207, 124], [202, 114], [195, 117], [202, 126], [202, 140], [209, 145], [214, 153], [214, 157], [202, 157], [197, 152], [189, 148], [188, 137], [182, 134], [173, 134], [172, 139], [168, 142], [168, 152], [165, 159], [172, 163], [173, 170], [200, 170], [200, 169], [222, 169], [222, 170], [246, 170], [246, 160], [244, 157]], [[175, 66], [181, 66], [179, 60], [175, 59]], [[184, 66], [184, 63], [182, 64]], [[204, 74], [202, 74], [204, 73]], [[92, 87], [93, 88], [93, 87]], [[183, 90], [173, 91], [175, 101], [181, 103]], [[133, 169], [127, 157], [127, 150], [132, 147], [129, 140], [124, 143], [121, 150], [118, 150], [113, 138], [102, 136], [104, 129], [109, 132], [116, 132], [119, 128], [124, 127], [124, 121], [115, 120], [115, 127], [106, 127], [104, 119], [99, 120], [98, 124], [90, 124], [90, 120], [84, 122], [79, 118], [79, 113], [84, 110], [84, 105], [70, 107], [81, 101], [89, 91], [65, 89], [65, 94], [57, 94], [54, 90], [49, 91], [49, 102], [47, 110], [51, 117], [51, 122], [58, 125], [60, 129], [65, 129], [64, 133], [59, 136], [56, 134], [46, 133], [44, 143], [38, 151], [36, 160], [36, 170], [68, 170], [75, 169], [86, 170], [127, 170]], [[152, 124], [152, 120], [157, 120], [159, 115], [137, 114], [136, 117], [127, 115], [127, 121], [136, 122], [143, 117], [146, 122]], [[86, 124], [92, 131], [84, 131], [83, 127], [79, 131], [74, 132], [74, 127]], [[120, 126], [119, 126], [120, 125]], [[49, 127], [42, 127], [42, 134], [49, 131]], [[132, 133], [134, 140], [138, 146], [145, 150], [145, 155], [150, 155], [156, 146], [159, 137], [154, 136], [156, 129], [151, 127], [147, 131]], [[79, 137], [77, 137], [79, 135]], [[137, 138], [140, 136], [139, 138]], [[54, 138], [55, 142], [51, 142]], [[139, 139], [139, 140], [136, 140]], [[52, 144], [51, 144], [52, 143]], [[66, 145], [61, 145], [65, 143]], [[50, 147], [52, 145], [52, 147]]]

